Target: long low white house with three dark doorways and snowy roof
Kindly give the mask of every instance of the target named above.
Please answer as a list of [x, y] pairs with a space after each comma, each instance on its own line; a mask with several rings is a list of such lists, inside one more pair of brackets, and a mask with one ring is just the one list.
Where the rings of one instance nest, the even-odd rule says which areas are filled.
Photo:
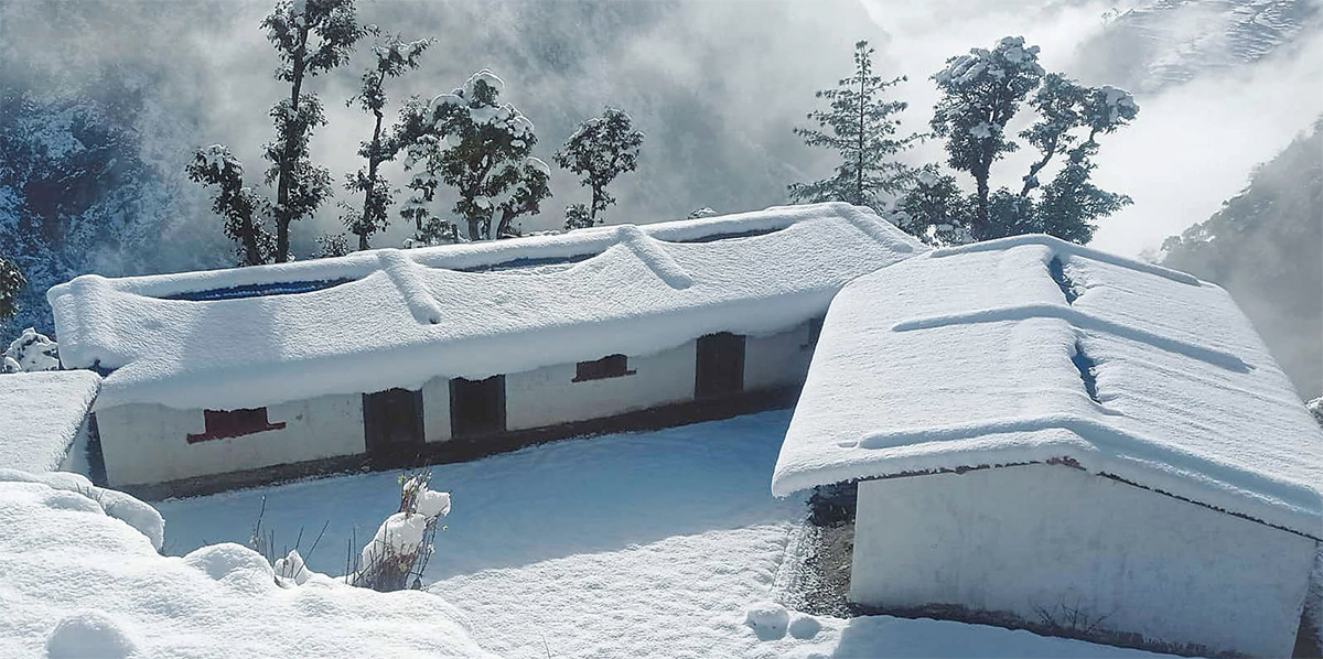
[[48, 298], [108, 483], [177, 492], [789, 404], [836, 291], [925, 250], [822, 204]]

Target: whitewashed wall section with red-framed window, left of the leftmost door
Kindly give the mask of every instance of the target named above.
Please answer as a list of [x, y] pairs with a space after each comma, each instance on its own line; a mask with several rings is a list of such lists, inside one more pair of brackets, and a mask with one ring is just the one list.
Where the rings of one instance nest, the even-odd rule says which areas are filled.
[[363, 396], [324, 396], [267, 408], [280, 430], [188, 443], [205, 430], [202, 410], [122, 405], [97, 412], [106, 479], [147, 484], [365, 451]]

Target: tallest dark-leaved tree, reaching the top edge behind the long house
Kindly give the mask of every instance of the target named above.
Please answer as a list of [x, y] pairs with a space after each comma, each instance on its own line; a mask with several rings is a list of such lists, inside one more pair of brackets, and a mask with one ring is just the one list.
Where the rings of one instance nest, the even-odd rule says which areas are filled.
[[290, 98], [271, 107], [275, 140], [263, 156], [274, 183], [275, 262], [290, 258], [290, 224], [311, 216], [331, 195], [331, 172], [312, 164], [308, 140], [325, 124], [321, 102], [303, 83], [349, 58], [363, 36], [353, 0], [282, 0], [262, 21], [266, 38], [280, 54], [275, 78], [290, 83]]

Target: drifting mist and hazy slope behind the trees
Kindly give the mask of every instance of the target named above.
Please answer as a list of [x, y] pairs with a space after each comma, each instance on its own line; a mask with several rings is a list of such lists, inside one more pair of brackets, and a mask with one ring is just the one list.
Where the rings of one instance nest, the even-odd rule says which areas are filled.
[[[4, 226], [42, 240], [20, 254], [36, 277], [5, 336], [26, 324], [49, 330], [42, 292], [77, 274], [235, 262], [206, 192], [187, 180], [184, 165], [193, 148], [225, 143], [250, 177], [265, 169], [267, 111], [284, 94], [259, 28], [270, 8], [246, 0], [0, 0], [0, 124], [29, 161], [0, 169], [8, 176], [0, 179], [0, 240]], [[482, 67], [504, 78], [503, 99], [533, 120], [534, 155], [546, 160], [603, 106], [628, 111], [647, 140], [639, 169], [613, 185], [619, 202], [607, 222], [671, 220], [701, 206], [761, 209], [785, 204], [787, 184], [827, 175], [831, 156], [804, 147], [791, 128], [818, 107], [815, 90], [849, 73], [860, 38], [877, 48], [880, 74], [909, 75], [896, 89], [910, 102], [905, 132], [926, 130], [937, 97], [927, 78], [945, 58], [1005, 34], [1041, 45], [1049, 69], [1132, 87], [1143, 111], [1132, 128], [1106, 138], [1097, 177], [1135, 205], [1105, 220], [1095, 241], [1130, 254], [1207, 220], [1254, 163], [1323, 111], [1323, 98], [1306, 85], [1323, 62], [1314, 0], [364, 0], [359, 13], [405, 38], [437, 38], [418, 71], [393, 81], [388, 122], [404, 98], [450, 91]], [[363, 50], [310, 83], [329, 119], [312, 139], [312, 159], [331, 169], [333, 201], [347, 198], [339, 184], [361, 164], [355, 151], [370, 132], [368, 116], [344, 103], [366, 66]], [[1293, 102], [1273, 101], [1279, 93]], [[1226, 130], [1209, 139], [1218, 126]], [[85, 128], [94, 130], [78, 132]], [[75, 134], [105, 139], [83, 143]], [[1201, 151], [1213, 142], [1222, 146], [1216, 159]], [[943, 155], [929, 140], [905, 157], [921, 164]], [[405, 183], [397, 165], [385, 173], [396, 187]], [[1181, 183], [1192, 177], [1203, 184]], [[557, 228], [565, 205], [586, 201], [560, 169], [552, 192], [542, 214], [524, 220], [525, 232]], [[314, 253], [319, 234], [343, 230], [333, 201], [294, 225], [299, 258]], [[396, 222], [373, 243], [397, 246], [405, 236]]]

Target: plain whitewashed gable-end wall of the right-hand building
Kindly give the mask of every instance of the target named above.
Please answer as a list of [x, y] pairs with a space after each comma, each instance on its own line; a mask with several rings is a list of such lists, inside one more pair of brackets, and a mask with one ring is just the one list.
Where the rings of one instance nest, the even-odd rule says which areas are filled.
[[962, 605], [1290, 656], [1316, 544], [1113, 479], [1031, 464], [859, 486], [849, 598]]

